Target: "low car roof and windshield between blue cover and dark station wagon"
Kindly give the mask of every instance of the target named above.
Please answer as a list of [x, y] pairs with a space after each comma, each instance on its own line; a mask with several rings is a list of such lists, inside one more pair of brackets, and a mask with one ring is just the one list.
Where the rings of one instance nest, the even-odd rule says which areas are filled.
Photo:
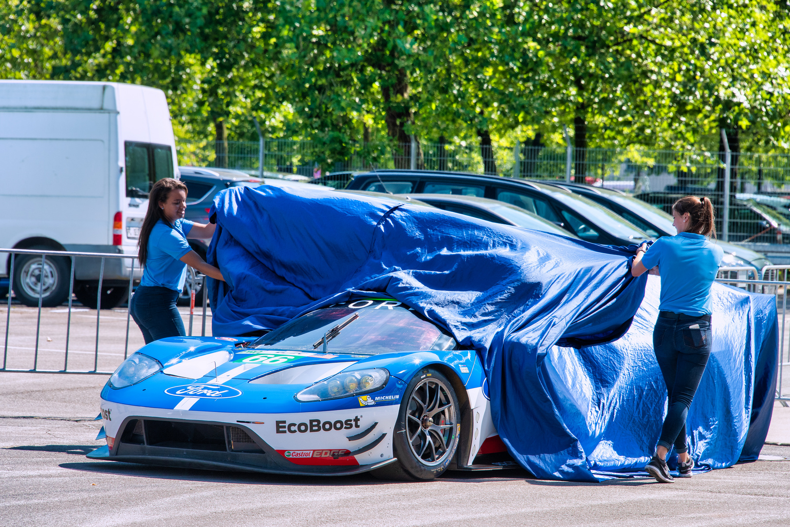
[[563, 236], [577, 238], [564, 228], [544, 220], [537, 214], [529, 213], [521, 207], [488, 198], [473, 196], [453, 196], [453, 194], [414, 194], [428, 205], [450, 213], [464, 214], [480, 220], [493, 221], [495, 224], [513, 225], [535, 231], [551, 232]]

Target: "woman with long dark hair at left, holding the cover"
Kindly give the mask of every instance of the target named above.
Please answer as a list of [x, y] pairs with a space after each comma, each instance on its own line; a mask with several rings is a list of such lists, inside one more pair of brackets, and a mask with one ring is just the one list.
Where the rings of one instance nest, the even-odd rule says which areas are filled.
[[176, 300], [186, 280], [186, 265], [224, 280], [220, 269], [203, 261], [187, 238], [211, 238], [216, 224], [184, 220], [186, 185], [160, 179], [149, 194], [149, 208], [140, 229], [137, 260], [143, 266], [140, 286], [132, 295], [130, 311], [140, 326], [145, 344], [164, 337], [183, 337], [184, 322]]

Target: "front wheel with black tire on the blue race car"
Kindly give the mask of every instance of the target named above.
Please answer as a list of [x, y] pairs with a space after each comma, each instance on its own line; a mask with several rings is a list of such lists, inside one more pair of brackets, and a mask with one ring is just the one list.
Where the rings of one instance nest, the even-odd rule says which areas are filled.
[[393, 429], [397, 461], [371, 474], [380, 480], [436, 479], [455, 457], [460, 423], [461, 408], [453, 385], [434, 368], [423, 368], [404, 391]]

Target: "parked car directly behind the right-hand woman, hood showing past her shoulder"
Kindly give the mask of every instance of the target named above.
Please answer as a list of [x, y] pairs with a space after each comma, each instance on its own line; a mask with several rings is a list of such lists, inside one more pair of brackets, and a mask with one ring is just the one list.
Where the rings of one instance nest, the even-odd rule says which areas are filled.
[[[601, 189], [594, 186], [577, 185], [576, 183], [563, 182], [555, 184], [564, 186], [606, 207], [613, 213], [623, 216], [623, 218], [641, 228], [653, 238], [676, 234], [670, 214], [619, 190]], [[770, 260], [764, 254], [759, 254], [754, 250], [747, 249], [747, 247], [721, 240], [716, 240], [716, 243], [724, 250], [724, 260], [722, 260], [721, 265], [727, 267], [751, 265], [758, 271], [766, 265], [771, 265]]]

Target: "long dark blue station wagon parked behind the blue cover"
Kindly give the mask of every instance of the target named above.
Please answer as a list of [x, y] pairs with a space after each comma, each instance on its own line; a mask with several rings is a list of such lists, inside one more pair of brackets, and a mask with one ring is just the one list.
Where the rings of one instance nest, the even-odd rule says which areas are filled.
[[651, 239], [610, 210], [559, 186], [448, 171], [382, 170], [355, 175], [347, 190], [393, 194], [453, 194], [504, 201], [593, 243], [631, 245]]

